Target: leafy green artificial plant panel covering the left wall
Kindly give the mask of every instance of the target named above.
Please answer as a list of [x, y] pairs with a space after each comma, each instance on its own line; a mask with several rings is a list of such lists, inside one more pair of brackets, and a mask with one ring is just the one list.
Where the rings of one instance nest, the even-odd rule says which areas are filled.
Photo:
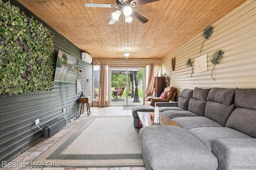
[[0, 95], [52, 89], [53, 34], [0, 0]]

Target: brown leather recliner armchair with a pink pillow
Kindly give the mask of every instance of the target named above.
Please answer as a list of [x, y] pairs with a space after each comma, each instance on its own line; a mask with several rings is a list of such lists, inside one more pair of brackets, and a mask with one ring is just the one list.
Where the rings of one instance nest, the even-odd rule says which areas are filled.
[[174, 87], [166, 87], [164, 89], [164, 91], [167, 93], [167, 97], [166, 99], [161, 99], [159, 97], [147, 97], [146, 101], [145, 101], [145, 105], [148, 106], [155, 106], [156, 102], [169, 102], [169, 101], [175, 101], [175, 97], [176, 97], [176, 88]]

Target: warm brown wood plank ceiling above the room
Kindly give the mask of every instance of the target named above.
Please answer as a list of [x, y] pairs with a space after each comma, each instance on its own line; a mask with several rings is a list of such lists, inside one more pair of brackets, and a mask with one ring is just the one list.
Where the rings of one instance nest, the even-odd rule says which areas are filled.
[[[162, 59], [246, 0], [160, 0], [133, 8], [146, 18], [108, 25], [117, 8], [88, 8], [84, 3], [116, 0], [18, 0], [93, 58]], [[62, 49], [65, 50], [65, 49]]]

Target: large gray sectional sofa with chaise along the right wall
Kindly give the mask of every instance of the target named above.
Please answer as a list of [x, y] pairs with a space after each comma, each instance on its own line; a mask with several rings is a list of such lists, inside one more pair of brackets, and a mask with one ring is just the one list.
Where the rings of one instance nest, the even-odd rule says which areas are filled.
[[184, 89], [167, 105], [159, 110], [180, 127], [140, 129], [147, 170], [256, 169], [256, 89]]

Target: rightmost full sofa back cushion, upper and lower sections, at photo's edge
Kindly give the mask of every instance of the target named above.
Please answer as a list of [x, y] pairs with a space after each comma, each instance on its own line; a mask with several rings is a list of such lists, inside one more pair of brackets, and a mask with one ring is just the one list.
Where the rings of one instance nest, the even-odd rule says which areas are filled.
[[256, 89], [236, 89], [234, 105], [226, 127], [256, 138]]

